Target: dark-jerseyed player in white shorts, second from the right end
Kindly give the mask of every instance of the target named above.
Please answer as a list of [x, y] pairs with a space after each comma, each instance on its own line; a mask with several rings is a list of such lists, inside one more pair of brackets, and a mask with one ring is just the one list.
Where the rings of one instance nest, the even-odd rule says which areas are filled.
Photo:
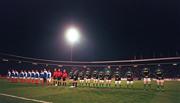
[[147, 90], [147, 87], [151, 88], [150, 71], [148, 68], [144, 68], [143, 77], [144, 77], [144, 90]]

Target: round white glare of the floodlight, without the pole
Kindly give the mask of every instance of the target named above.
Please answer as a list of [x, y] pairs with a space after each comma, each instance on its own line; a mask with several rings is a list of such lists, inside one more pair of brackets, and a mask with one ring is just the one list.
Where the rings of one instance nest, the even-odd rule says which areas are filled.
[[76, 28], [69, 28], [66, 31], [66, 39], [71, 43], [74, 44], [79, 40], [79, 31]]

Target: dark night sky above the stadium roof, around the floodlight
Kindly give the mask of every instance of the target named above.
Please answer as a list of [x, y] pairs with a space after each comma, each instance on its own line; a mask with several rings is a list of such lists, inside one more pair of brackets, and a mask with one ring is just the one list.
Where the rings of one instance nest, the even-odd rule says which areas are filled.
[[180, 53], [178, 0], [1, 0], [0, 52], [69, 60], [64, 31], [82, 37], [73, 60], [122, 60]]

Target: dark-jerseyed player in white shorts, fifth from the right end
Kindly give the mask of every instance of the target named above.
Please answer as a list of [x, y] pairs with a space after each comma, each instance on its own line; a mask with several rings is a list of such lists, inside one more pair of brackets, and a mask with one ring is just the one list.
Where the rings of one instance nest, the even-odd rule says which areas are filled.
[[111, 86], [111, 78], [112, 78], [110, 66], [108, 66], [108, 68], [106, 69], [105, 78], [106, 78], [106, 87], [110, 87]]

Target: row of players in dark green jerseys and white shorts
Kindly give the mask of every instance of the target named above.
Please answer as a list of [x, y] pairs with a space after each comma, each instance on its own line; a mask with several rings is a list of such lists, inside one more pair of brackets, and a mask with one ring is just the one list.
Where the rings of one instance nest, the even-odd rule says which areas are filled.
[[[144, 68], [142, 75], [144, 77], [144, 89], [151, 88], [151, 76], [150, 76], [150, 70], [148, 68]], [[155, 72], [156, 76], [156, 82], [157, 82], [157, 89], [164, 89], [164, 78], [163, 78], [163, 72], [161, 69], [157, 69]], [[121, 86], [121, 74], [119, 69], [117, 68], [114, 72], [114, 75], [112, 75], [112, 72], [110, 69], [106, 69], [106, 71], [97, 71], [94, 70], [91, 74], [90, 70], [87, 69], [87, 71], [71, 71], [69, 73], [69, 78], [71, 81], [73, 81], [73, 86], [77, 86], [77, 80], [79, 78], [80, 85], [83, 85], [85, 82], [85, 85], [90, 86], [90, 81], [93, 80], [93, 86], [103, 86], [106, 84], [106, 86], [111, 86], [111, 80], [112, 78], [115, 79], [115, 86]], [[131, 71], [128, 71], [126, 73], [127, 78], [127, 88], [129, 86], [133, 87], [133, 73]]]

